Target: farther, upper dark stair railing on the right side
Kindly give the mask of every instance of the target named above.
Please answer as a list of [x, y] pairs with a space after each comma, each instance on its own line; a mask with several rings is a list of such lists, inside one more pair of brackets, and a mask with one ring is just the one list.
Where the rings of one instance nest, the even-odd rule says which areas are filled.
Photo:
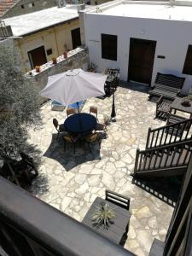
[[192, 119], [186, 119], [173, 125], [165, 125], [160, 128], [148, 128], [146, 149], [156, 148], [172, 143], [190, 140]]

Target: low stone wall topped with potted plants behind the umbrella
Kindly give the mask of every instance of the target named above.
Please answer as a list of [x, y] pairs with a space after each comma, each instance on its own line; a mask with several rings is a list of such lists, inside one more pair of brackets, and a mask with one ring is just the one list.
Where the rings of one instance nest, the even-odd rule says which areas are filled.
[[[69, 69], [82, 68], [87, 69], [89, 63], [88, 49], [76, 48], [67, 53], [67, 58], [64, 59], [63, 56], [57, 58], [57, 64], [52, 64], [52, 61], [47, 62], [41, 66], [40, 73], [36, 73], [33, 69], [32, 72], [26, 73], [26, 78], [31, 79], [32, 84], [34, 84], [38, 90], [43, 90], [47, 84], [48, 77], [55, 75], [57, 73], [65, 72]], [[42, 102], [46, 99], [42, 98]]]

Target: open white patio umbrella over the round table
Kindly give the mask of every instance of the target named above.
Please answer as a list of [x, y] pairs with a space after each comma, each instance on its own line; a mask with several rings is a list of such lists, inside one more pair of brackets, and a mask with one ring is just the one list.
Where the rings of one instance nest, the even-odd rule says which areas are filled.
[[107, 77], [102, 73], [85, 72], [80, 68], [69, 70], [49, 76], [48, 83], [40, 94], [68, 106], [90, 97], [103, 96]]

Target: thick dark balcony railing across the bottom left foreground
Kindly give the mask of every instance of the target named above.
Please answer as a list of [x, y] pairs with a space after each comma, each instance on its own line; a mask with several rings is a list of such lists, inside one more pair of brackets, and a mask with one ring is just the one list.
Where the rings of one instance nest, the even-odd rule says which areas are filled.
[[135, 255], [3, 177], [0, 247], [9, 256]]

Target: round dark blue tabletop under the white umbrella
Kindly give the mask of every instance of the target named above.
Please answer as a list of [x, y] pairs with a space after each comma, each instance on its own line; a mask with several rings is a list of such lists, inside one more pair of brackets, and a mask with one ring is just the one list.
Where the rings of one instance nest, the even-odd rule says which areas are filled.
[[72, 133], [86, 133], [96, 128], [96, 118], [90, 113], [74, 113], [65, 120], [64, 127]]

